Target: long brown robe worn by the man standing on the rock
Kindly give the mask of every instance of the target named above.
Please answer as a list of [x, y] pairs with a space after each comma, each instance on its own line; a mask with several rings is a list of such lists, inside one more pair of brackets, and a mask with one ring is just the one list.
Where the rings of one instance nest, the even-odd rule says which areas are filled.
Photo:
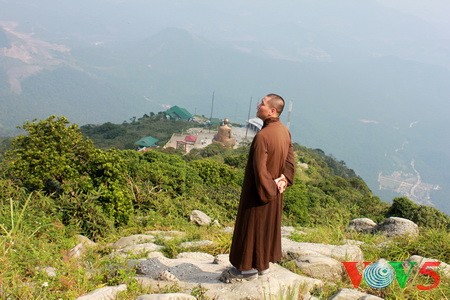
[[230, 262], [239, 270], [266, 270], [281, 259], [283, 194], [274, 181], [281, 174], [293, 183], [291, 134], [279, 118], [269, 118], [253, 139], [245, 169], [230, 249]]

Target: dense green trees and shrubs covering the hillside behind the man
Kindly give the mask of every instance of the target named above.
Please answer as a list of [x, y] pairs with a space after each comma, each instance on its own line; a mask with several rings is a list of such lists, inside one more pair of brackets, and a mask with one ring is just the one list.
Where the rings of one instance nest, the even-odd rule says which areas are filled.
[[[87, 274], [71, 273], [74, 266], [61, 253], [73, 246], [77, 233], [101, 242], [139, 228], [191, 228], [194, 209], [232, 226], [248, 145], [232, 150], [212, 144], [188, 155], [174, 149], [126, 150], [143, 133], [160, 133], [163, 141], [187, 125], [153, 115], [131, 124], [84, 127], [93, 141], [65, 117], [25, 123], [26, 134], [8, 144], [0, 165], [0, 298], [41, 293], [28, 284], [42, 282], [40, 265], [61, 264], [67, 270], [54, 290], [42, 292], [44, 298], [71, 298], [92, 284], [113, 281], [110, 275], [88, 283]], [[447, 215], [407, 198], [396, 198], [392, 205], [380, 200], [344, 162], [320, 149], [295, 143], [295, 157], [295, 184], [284, 196], [284, 225], [339, 232], [353, 218], [406, 217], [428, 227], [444, 246], [405, 244], [404, 251], [450, 261]], [[216, 238], [222, 246], [210, 251], [228, 251], [230, 241]]]

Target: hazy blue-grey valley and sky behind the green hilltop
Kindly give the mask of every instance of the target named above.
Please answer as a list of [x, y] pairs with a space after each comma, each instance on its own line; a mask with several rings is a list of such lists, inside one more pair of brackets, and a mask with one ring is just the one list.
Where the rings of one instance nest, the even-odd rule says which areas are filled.
[[274, 92], [292, 103], [295, 142], [345, 161], [385, 201], [450, 214], [448, 1], [0, 5], [3, 136], [51, 114], [122, 123], [172, 105], [245, 124]]

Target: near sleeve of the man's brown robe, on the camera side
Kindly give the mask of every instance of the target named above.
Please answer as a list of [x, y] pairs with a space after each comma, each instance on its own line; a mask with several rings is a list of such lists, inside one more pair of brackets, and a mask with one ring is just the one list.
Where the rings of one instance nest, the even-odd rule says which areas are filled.
[[267, 203], [277, 198], [278, 188], [269, 170], [267, 170], [268, 150], [266, 141], [258, 136], [253, 151], [253, 173], [256, 190], [261, 201]]

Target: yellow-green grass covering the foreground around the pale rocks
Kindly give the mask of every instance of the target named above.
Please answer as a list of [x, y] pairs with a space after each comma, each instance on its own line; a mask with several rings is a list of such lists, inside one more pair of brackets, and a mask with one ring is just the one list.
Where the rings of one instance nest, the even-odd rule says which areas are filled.
[[[21, 196], [20, 196], [21, 195]], [[231, 244], [230, 233], [223, 227], [199, 227], [185, 218], [169, 219], [155, 212], [136, 216], [126, 227], [111, 232], [97, 241], [80, 259], [70, 258], [69, 249], [78, 242], [74, 238], [77, 230], [64, 226], [57, 218], [39, 213], [42, 201], [34, 201], [38, 195], [16, 194], [19, 199], [2, 198], [0, 203], [0, 299], [73, 299], [106, 285], [125, 283], [127, 291], [119, 294], [118, 299], [135, 299], [138, 295], [151, 293], [179, 292], [181, 287], [172, 284], [161, 286], [158, 290], [140, 285], [134, 278], [133, 268], [127, 266], [127, 260], [110, 256], [109, 244], [121, 236], [145, 233], [150, 230], [183, 232], [166, 238], [158, 235], [155, 243], [164, 246], [167, 257], [175, 257], [186, 251], [180, 248], [185, 241], [211, 240], [212, 245], [189, 249], [212, 255], [227, 253]], [[43, 196], [40, 196], [43, 197]], [[42, 199], [41, 199], [42, 200]], [[44, 199], [45, 200], [45, 199]], [[50, 200], [48, 200], [50, 201]], [[229, 224], [226, 224], [229, 225]], [[342, 245], [345, 240], [363, 242], [361, 249], [366, 261], [385, 258], [390, 261], [403, 261], [411, 255], [437, 258], [450, 261], [450, 234], [436, 229], [421, 229], [420, 236], [412, 238], [388, 239], [382, 235], [348, 232], [340, 226], [320, 226], [298, 228], [291, 239], [298, 242], [325, 243]], [[381, 245], [381, 246], [380, 246]], [[284, 267], [292, 272], [301, 273], [292, 261], [283, 261]], [[56, 276], [49, 276], [44, 268], [53, 267]], [[429, 285], [427, 277], [413, 271], [405, 288], [394, 281], [388, 288], [374, 290], [362, 283], [359, 290], [385, 299], [448, 299], [450, 295], [449, 279], [442, 280], [438, 287], [430, 291], [421, 291], [417, 285]], [[337, 284], [326, 283], [313, 295], [325, 299], [340, 288], [353, 288], [350, 280], [344, 279]], [[206, 299], [205, 288], [199, 285], [192, 290], [198, 299]], [[294, 299], [296, 291], [286, 291], [279, 299]], [[447, 298], [446, 298], [447, 297]]]

